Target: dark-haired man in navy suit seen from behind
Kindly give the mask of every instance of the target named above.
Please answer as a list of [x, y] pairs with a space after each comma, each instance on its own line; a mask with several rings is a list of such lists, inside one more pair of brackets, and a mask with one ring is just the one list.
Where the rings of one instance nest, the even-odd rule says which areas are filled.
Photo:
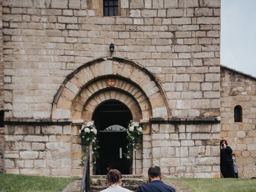
[[140, 185], [136, 192], [175, 192], [173, 187], [164, 184], [161, 179], [160, 167], [150, 167], [148, 169], [148, 183]]

